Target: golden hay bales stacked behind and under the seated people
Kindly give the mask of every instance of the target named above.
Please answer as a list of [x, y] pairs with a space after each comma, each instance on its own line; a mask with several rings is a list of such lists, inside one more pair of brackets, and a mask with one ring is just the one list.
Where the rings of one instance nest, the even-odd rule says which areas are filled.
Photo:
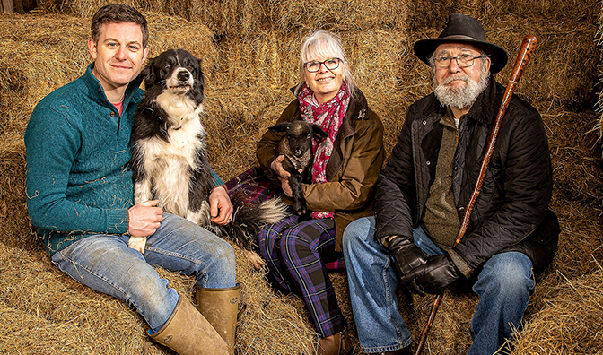
[[[0, 352], [129, 354], [139, 352], [146, 339], [144, 321], [123, 302], [88, 290], [49, 263], [31, 232], [25, 208], [22, 134], [31, 110], [49, 91], [83, 72], [89, 63], [85, 44], [90, 16], [108, 2], [44, 0], [39, 4], [54, 15], [0, 16], [0, 216], [7, 226], [6, 238], [0, 242], [4, 265], [0, 320], [9, 324], [0, 336], [10, 340], [0, 343]], [[207, 75], [202, 119], [209, 134], [210, 159], [224, 180], [256, 164], [255, 143], [293, 99], [289, 88], [300, 80], [299, 48], [310, 30], [332, 30], [343, 40], [358, 86], [386, 126], [387, 152], [396, 143], [406, 108], [431, 91], [430, 70], [415, 58], [412, 46], [417, 39], [436, 37], [448, 14], [461, 12], [480, 19], [488, 39], [509, 51], [509, 67], [497, 74], [502, 83], [522, 37], [536, 35], [537, 51], [516, 92], [545, 119], [555, 169], [552, 208], [560, 217], [562, 236], [555, 263], [538, 280], [518, 349], [530, 349], [530, 342], [535, 342], [532, 334], [548, 326], [539, 318], [553, 309], [552, 298], [571, 296], [562, 291], [568, 283], [594, 280], [588, 276], [597, 270], [593, 260], [603, 258], [598, 216], [603, 186], [595, 159], [599, 154], [591, 151], [596, 137], [585, 133], [596, 119], [586, 109], [595, 97], [592, 87], [599, 57], [591, 42], [600, 8], [596, 0], [572, 4], [562, 0], [537, 4], [132, 0], [129, 4], [149, 19], [150, 56], [166, 48], [185, 48], [202, 58]], [[28, 58], [28, 65], [21, 65], [16, 57]], [[265, 275], [253, 272], [238, 249], [237, 261], [249, 302], [239, 324], [238, 353], [313, 353], [315, 338], [301, 300], [275, 293]], [[190, 279], [160, 272], [178, 290], [191, 292]], [[345, 274], [334, 273], [332, 279], [354, 331]], [[592, 287], [599, 287], [601, 293], [600, 282]], [[468, 326], [477, 298], [464, 290], [446, 293], [425, 352], [464, 353], [471, 342]], [[432, 298], [400, 296], [416, 341]], [[555, 307], [554, 313], [564, 316], [563, 310]], [[15, 316], [19, 321], [13, 320]], [[592, 322], [585, 324], [564, 323], [581, 333], [589, 327], [596, 333]], [[38, 329], [45, 338], [40, 339]], [[355, 338], [354, 344], [360, 352]], [[561, 345], [560, 349], [564, 351], [559, 353], [569, 354], [576, 348]], [[165, 352], [156, 345], [147, 351]]]

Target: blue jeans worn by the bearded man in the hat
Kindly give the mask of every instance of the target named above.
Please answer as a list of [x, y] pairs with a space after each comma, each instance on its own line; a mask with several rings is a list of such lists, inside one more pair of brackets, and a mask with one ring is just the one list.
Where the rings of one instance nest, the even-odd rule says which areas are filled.
[[[363, 351], [395, 351], [411, 342], [410, 331], [398, 312], [398, 275], [388, 250], [373, 238], [374, 217], [350, 223], [344, 232], [344, 255], [358, 339]], [[417, 228], [415, 244], [427, 255], [443, 254], [440, 247]], [[479, 295], [471, 321], [470, 355], [492, 355], [512, 329], [520, 326], [534, 290], [529, 257], [508, 252], [493, 255], [480, 271], [473, 290]]]

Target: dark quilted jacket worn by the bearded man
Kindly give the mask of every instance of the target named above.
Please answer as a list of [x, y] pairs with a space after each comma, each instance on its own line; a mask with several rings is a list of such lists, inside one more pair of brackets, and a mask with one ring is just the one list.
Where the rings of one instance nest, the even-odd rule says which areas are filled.
[[[490, 84], [460, 120], [454, 155], [452, 188], [462, 221], [476, 184], [486, 144], [504, 88]], [[375, 238], [412, 237], [420, 224], [435, 176], [445, 113], [433, 94], [418, 100], [406, 121], [376, 187]], [[468, 230], [454, 251], [473, 269], [492, 255], [520, 251], [536, 272], [551, 263], [557, 247], [559, 223], [548, 209], [553, 187], [546, 132], [535, 108], [513, 96], [486, 171]]]

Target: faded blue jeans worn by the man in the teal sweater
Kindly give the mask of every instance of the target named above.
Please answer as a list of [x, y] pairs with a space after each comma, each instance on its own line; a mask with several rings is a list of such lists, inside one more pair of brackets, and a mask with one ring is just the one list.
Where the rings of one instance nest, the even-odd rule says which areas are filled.
[[52, 256], [53, 264], [93, 290], [123, 299], [159, 331], [178, 303], [153, 266], [197, 278], [197, 286], [235, 286], [234, 251], [225, 240], [197, 224], [163, 213], [159, 229], [147, 238], [144, 255], [127, 247], [127, 236], [96, 234]]

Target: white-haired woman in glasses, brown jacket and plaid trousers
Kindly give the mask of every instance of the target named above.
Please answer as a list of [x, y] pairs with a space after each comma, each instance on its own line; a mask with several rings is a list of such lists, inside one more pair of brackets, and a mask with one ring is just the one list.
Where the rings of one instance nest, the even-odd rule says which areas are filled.
[[[302, 185], [311, 219], [292, 213], [261, 230], [258, 244], [268, 276], [278, 290], [301, 296], [319, 334], [319, 354], [352, 351], [345, 318], [328, 278], [329, 263], [340, 260], [345, 226], [372, 215], [371, 196], [384, 160], [383, 126], [354, 86], [341, 41], [319, 30], [301, 47], [301, 82], [295, 99], [278, 123], [304, 120], [319, 125], [327, 137], [312, 143], [311, 183]], [[263, 171], [290, 201], [289, 173], [277, 155], [282, 133], [267, 131], [258, 143]]]

